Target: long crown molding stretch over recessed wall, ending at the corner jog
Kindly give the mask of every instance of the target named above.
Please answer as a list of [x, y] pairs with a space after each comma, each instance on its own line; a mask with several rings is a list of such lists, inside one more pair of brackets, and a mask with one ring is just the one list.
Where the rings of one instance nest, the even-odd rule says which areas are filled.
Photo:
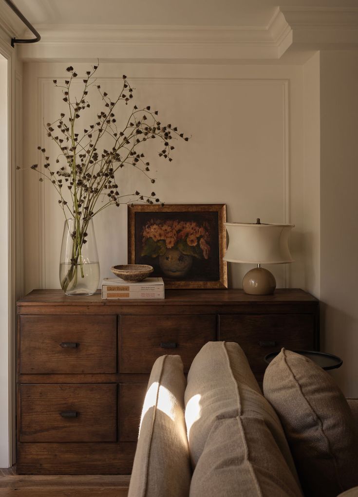
[[[20, 47], [24, 60], [43, 59], [49, 52], [83, 58], [89, 47], [103, 59], [276, 59], [278, 46], [288, 29], [277, 8], [268, 26], [138, 26], [138, 25], [54, 25], [35, 26], [41, 41]], [[55, 54], [54, 54], [55, 55]], [[56, 57], [56, 56], [55, 56]]]

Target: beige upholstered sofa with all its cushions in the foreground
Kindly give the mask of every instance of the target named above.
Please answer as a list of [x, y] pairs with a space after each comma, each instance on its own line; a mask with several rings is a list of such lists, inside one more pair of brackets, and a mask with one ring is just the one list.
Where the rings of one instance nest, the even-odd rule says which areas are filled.
[[237, 343], [157, 359], [128, 497], [357, 497], [358, 401], [284, 349], [264, 393]]

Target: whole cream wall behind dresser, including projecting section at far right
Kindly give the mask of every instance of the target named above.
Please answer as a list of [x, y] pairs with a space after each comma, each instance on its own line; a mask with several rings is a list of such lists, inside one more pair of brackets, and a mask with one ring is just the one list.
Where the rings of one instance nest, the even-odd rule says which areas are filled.
[[[65, 77], [70, 63], [24, 64], [25, 169], [40, 160], [43, 118], [61, 111], [52, 80]], [[127, 63], [102, 64], [99, 73], [110, 94], [126, 73], [139, 103], [158, 107], [163, 122], [192, 135], [178, 143], [171, 164], [153, 149], [155, 191], [166, 202], [226, 203], [228, 221], [296, 225], [295, 262], [270, 269], [278, 287], [322, 299], [322, 348], [343, 357], [333, 374], [346, 395], [358, 395], [357, 64], [356, 52], [342, 51], [317, 52], [303, 66]], [[87, 67], [76, 65], [80, 75]], [[29, 169], [23, 178], [24, 290], [58, 288], [63, 214], [51, 185]], [[126, 173], [123, 183], [128, 191], [152, 190]], [[126, 208], [105, 210], [94, 223], [101, 276], [110, 276], [112, 264], [127, 260]], [[229, 264], [229, 286], [241, 287], [246, 270]]]

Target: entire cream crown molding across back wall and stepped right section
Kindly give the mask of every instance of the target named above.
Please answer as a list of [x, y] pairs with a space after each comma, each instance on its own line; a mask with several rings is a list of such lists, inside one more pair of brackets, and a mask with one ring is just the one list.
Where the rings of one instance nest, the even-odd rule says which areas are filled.
[[16, 47], [22, 60], [237, 64], [279, 60], [294, 50], [357, 48], [358, 7], [277, 7], [267, 26], [35, 27], [41, 41]]

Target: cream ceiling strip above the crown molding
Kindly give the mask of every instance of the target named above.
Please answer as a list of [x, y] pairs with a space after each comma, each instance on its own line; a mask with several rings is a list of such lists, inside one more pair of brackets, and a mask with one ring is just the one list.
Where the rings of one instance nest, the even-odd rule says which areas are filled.
[[[277, 5], [357, 7], [358, 0], [13, 0], [35, 24], [264, 28]], [[278, 3], [279, 2], [279, 3]]]

